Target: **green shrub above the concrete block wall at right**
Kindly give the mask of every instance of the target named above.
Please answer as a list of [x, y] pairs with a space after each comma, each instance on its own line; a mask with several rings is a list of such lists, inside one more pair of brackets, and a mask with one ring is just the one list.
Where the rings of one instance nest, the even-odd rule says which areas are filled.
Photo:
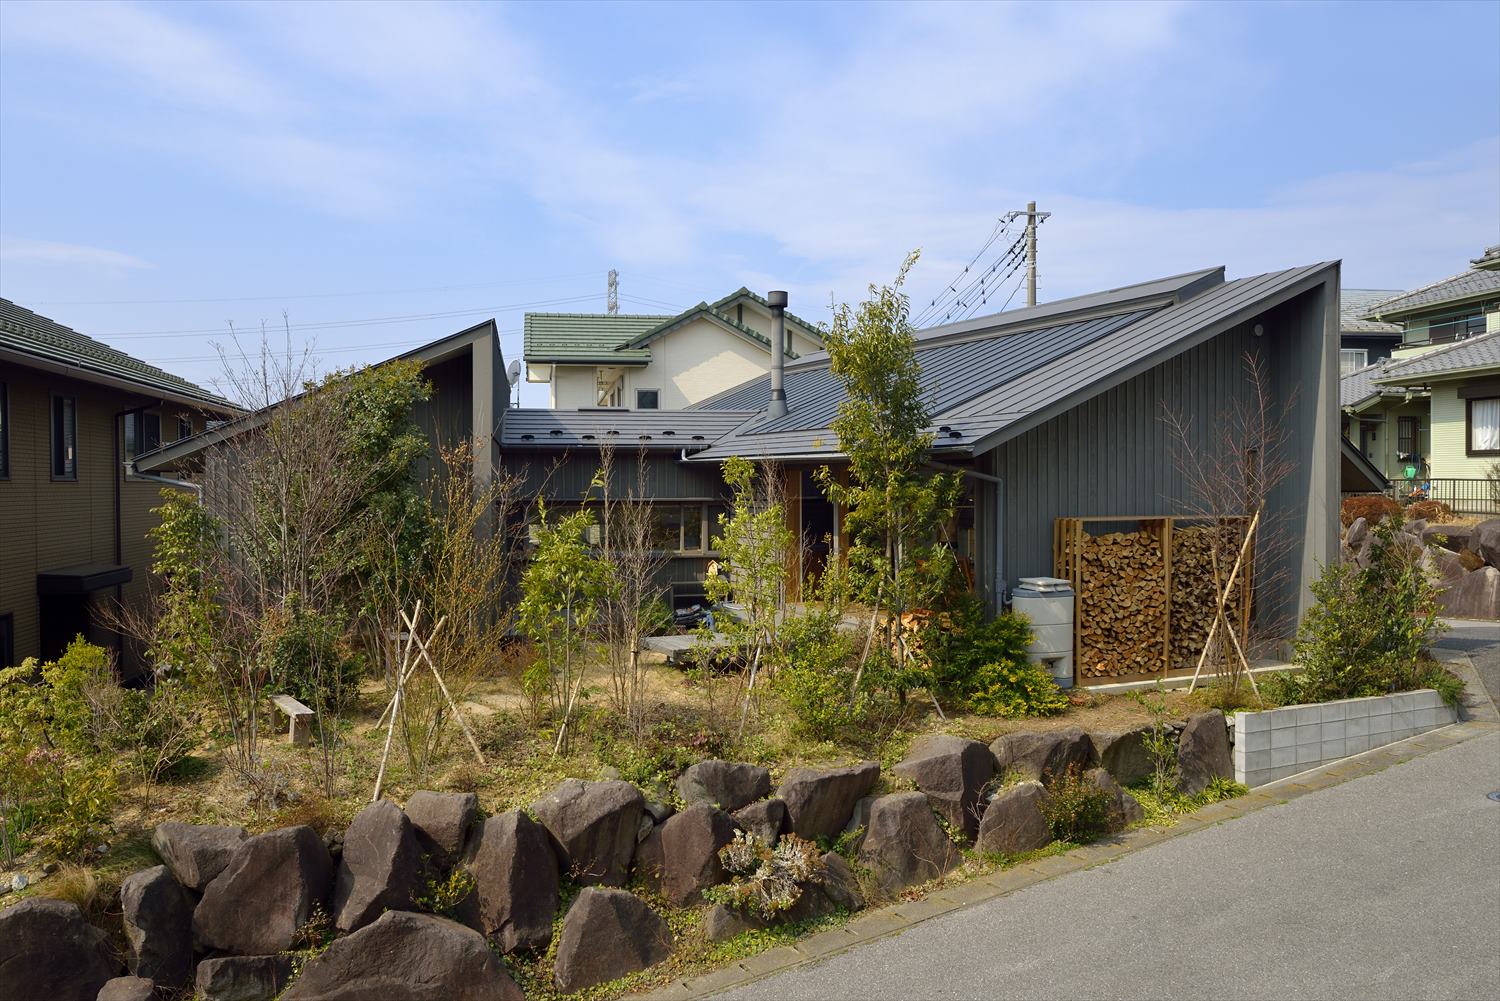
[[1296, 639], [1300, 672], [1270, 680], [1286, 705], [1404, 692], [1422, 684], [1422, 653], [1437, 638], [1437, 587], [1400, 512], [1372, 530], [1370, 566], [1334, 563], [1312, 582], [1317, 603]]

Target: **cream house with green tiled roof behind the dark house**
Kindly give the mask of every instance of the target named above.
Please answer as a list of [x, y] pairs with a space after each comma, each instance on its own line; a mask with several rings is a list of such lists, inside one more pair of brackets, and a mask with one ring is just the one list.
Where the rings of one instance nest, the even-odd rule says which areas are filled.
[[[788, 357], [820, 348], [788, 314]], [[549, 407], [681, 410], [770, 371], [771, 306], [741, 288], [670, 317], [528, 312], [524, 357]]]

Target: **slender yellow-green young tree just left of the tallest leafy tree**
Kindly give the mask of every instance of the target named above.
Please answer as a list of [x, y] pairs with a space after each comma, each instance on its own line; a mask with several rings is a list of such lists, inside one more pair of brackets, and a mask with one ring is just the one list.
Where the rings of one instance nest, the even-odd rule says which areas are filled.
[[710, 602], [734, 597], [741, 617], [723, 615], [720, 630], [736, 650], [748, 651], [744, 674], [744, 699], [740, 710], [740, 732], [744, 734], [754, 696], [756, 677], [766, 651], [776, 648], [777, 621], [786, 594], [786, 560], [792, 549], [792, 533], [786, 527], [782, 504], [780, 470], [760, 468], [740, 456], [723, 464], [724, 483], [734, 500], [729, 512], [720, 515], [714, 548], [722, 554], [720, 572], [705, 582]]

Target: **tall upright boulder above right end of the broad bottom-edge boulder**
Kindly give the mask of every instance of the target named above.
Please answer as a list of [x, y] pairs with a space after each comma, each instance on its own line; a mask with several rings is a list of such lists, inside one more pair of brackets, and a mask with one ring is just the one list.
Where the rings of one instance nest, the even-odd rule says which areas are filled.
[[502, 953], [546, 948], [560, 903], [558, 860], [548, 830], [522, 810], [490, 816], [470, 837], [464, 866], [474, 876], [465, 921]]

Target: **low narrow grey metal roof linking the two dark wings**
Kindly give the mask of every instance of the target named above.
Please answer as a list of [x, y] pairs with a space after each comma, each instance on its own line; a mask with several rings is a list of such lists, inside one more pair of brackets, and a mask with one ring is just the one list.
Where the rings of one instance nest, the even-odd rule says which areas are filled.
[[501, 449], [706, 449], [754, 413], [696, 410], [507, 410]]

